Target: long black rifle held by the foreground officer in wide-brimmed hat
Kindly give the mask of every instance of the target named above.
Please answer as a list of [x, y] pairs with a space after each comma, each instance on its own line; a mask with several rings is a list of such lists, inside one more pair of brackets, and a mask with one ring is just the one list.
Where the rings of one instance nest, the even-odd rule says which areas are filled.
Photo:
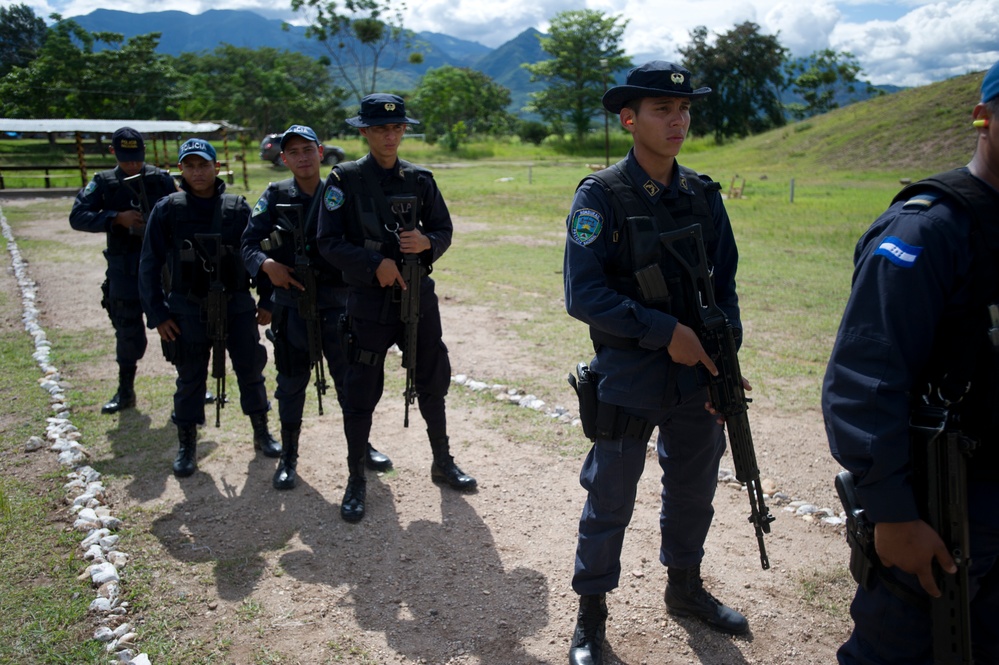
[[[663, 233], [660, 241], [667, 251], [687, 271], [696, 297], [695, 305], [700, 315], [697, 336], [704, 350], [718, 368], [718, 376], [709, 376], [708, 391], [711, 405], [724, 416], [728, 430], [729, 446], [735, 462], [735, 477], [745, 483], [749, 491], [749, 522], [756, 530], [756, 542], [760, 547], [760, 563], [763, 569], [770, 567], [767, 549], [763, 544], [763, 534], [770, 533], [770, 523], [774, 521], [770, 509], [764, 502], [760, 487], [760, 469], [756, 464], [756, 450], [753, 448], [753, 435], [749, 430], [749, 417], [746, 415], [749, 399], [742, 386], [742, 371], [739, 369], [736, 330], [725, 313], [715, 302], [714, 286], [708, 268], [704, 239], [698, 224], [678, 231]], [[687, 260], [686, 252], [675, 245], [681, 242], [693, 244], [697, 253], [697, 265]]]

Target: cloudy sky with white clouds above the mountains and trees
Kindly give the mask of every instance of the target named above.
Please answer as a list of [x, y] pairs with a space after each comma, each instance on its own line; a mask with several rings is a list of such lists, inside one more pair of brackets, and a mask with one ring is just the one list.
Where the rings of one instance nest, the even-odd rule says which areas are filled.
[[[20, 0], [39, 16], [64, 17], [106, 7], [106, 0]], [[9, 5], [0, 0], [0, 5]], [[628, 21], [624, 48], [642, 60], [677, 58], [690, 30], [725, 32], [753, 21], [794, 55], [832, 48], [857, 56], [872, 83], [902, 86], [987, 69], [999, 60], [999, 0], [409, 0], [407, 28], [496, 47], [527, 28], [545, 32], [548, 19], [567, 9], [596, 9]], [[289, 7], [284, 10], [282, 7]], [[300, 22], [290, 0], [146, 0], [126, 11], [249, 9]], [[297, 19], [297, 20], [296, 20]], [[636, 62], [637, 64], [637, 62]]]

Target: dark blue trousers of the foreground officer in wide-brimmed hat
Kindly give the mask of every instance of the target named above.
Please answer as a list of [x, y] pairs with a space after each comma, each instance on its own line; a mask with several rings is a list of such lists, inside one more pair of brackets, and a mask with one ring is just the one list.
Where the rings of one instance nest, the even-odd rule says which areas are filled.
[[[656, 450], [662, 468], [659, 560], [686, 568], [704, 556], [718, 484], [725, 435], [704, 409], [707, 389], [695, 390], [675, 405], [657, 410], [624, 409], [659, 428]], [[607, 593], [621, 577], [624, 532], [635, 508], [645, 468], [647, 441], [597, 439], [583, 462], [579, 482], [587, 491], [579, 520], [572, 588], [580, 595]]]

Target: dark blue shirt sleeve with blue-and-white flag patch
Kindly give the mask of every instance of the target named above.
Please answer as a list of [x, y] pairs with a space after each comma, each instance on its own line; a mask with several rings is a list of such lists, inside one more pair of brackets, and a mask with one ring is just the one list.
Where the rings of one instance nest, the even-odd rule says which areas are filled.
[[947, 197], [920, 194], [889, 207], [857, 243], [822, 411], [830, 450], [858, 476], [858, 497], [874, 522], [919, 518], [910, 400], [940, 321], [971, 297], [970, 228], [969, 215]]

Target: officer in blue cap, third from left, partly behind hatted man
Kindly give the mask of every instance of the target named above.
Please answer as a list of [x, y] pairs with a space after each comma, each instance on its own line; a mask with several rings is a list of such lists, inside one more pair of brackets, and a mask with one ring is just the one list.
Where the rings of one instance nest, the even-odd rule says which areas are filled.
[[[271, 330], [274, 334], [274, 363], [277, 367], [278, 414], [281, 418], [281, 462], [274, 474], [276, 489], [295, 487], [298, 463], [298, 439], [302, 412], [312, 367], [309, 362], [308, 333], [299, 313], [299, 298], [306, 281], [295, 272], [295, 230], [302, 224], [310, 270], [313, 271], [322, 330], [322, 352], [329, 362], [337, 401], [343, 403], [343, 376], [347, 363], [340, 346], [337, 324], [345, 312], [347, 286], [340, 271], [319, 256], [315, 245], [316, 221], [322, 184], [320, 168], [323, 145], [311, 127], [292, 125], [281, 135], [281, 160], [293, 177], [268, 185], [253, 207], [253, 215], [243, 233], [243, 260], [256, 277], [264, 272], [275, 287]], [[301, 219], [280, 214], [281, 205], [300, 206]], [[262, 245], [269, 249], [264, 250]], [[320, 361], [321, 362], [321, 361]], [[365, 463], [369, 469], [388, 471], [392, 461], [368, 444]]]

